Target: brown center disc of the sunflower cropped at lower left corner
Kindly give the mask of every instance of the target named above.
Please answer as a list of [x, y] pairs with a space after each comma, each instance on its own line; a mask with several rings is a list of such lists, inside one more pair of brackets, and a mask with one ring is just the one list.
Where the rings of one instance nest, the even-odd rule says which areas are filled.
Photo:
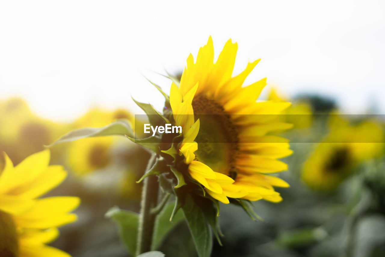
[[0, 211], [0, 256], [19, 256], [18, 235], [15, 223], [10, 215], [2, 211]]

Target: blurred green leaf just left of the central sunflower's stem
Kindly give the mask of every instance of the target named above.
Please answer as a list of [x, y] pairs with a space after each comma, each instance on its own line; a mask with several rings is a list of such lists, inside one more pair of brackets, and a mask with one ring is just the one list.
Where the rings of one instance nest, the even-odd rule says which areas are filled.
[[107, 211], [105, 216], [115, 221], [121, 240], [126, 245], [129, 253], [134, 255], [136, 252], [139, 214], [113, 207]]

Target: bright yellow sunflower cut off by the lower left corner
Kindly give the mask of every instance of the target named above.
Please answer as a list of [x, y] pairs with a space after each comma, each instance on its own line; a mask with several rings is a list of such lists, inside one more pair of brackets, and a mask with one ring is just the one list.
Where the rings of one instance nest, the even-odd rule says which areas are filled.
[[57, 227], [76, 220], [69, 211], [79, 205], [79, 198], [39, 198], [67, 176], [62, 166], [49, 166], [49, 160], [50, 153], [44, 150], [13, 167], [5, 155], [0, 173], [0, 256], [69, 256], [45, 244], [58, 237]]

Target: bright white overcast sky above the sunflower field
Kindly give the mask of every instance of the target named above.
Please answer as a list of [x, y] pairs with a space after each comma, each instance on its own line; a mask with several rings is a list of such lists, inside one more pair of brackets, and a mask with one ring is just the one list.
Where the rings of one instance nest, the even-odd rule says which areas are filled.
[[89, 107], [161, 108], [142, 74], [182, 70], [213, 36], [216, 56], [238, 42], [236, 72], [262, 61], [248, 82], [268, 78], [283, 94], [335, 97], [345, 113], [385, 113], [385, 2], [1, 1], [0, 99], [22, 96], [40, 115], [71, 120]]

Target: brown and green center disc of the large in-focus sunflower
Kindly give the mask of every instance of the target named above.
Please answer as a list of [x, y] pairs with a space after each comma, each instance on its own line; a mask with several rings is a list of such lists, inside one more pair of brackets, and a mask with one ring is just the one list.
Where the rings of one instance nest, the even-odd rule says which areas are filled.
[[195, 118], [199, 118], [199, 133], [195, 152], [199, 161], [216, 172], [229, 175], [235, 172], [234, 161], [238, 155], [238, 129], [231, 117], [216, 101], [198, 95], [192, 101]]

